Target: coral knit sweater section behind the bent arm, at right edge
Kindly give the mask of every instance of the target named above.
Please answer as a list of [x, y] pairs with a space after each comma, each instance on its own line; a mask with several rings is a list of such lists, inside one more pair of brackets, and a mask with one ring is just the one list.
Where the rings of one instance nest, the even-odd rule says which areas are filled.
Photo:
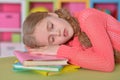
[[107, 17], [107, 32], [113, 48], [120, 51], [120, 22], [111, 16]]

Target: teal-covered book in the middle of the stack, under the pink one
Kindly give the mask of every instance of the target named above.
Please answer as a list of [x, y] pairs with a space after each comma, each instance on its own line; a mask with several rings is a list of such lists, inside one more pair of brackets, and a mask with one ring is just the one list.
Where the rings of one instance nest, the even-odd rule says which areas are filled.
[[41, 71], [53, 71], [53, 72], [57, 72], [60, 71], [63, 66], [62, 65], [57, 65], [57, 66], [32, 66], [32, 67], [26, 67], [23, 66], [20, 62], [16, 62], [13, 64], [13, 68], [14, 70], [41, 70]]

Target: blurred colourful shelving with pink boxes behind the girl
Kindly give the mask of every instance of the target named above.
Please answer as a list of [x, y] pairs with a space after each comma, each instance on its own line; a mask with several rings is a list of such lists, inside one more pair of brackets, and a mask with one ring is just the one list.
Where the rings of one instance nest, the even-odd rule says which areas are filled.
[[22, 23], [30, 12], [67, 8], [71, 13], [96, 8], [120, 21], [120, 0], [0, 0], [0, 57], [13, 56], [22, 44]]

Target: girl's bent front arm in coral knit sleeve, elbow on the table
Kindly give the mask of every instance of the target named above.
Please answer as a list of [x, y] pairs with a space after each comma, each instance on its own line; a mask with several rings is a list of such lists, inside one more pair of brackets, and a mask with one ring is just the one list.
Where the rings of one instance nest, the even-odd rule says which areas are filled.
[[110, 72], [114, 69], [114, 55], [109, 36], [105, 29], [105, 20], [102, 16], [91, 15], [84, 24], [83, 31], [92, 42], [91, 48], [81, 50], [78, 47], [62, 45], [58, 56], [66, 57], [70, 63], [82, 68]]

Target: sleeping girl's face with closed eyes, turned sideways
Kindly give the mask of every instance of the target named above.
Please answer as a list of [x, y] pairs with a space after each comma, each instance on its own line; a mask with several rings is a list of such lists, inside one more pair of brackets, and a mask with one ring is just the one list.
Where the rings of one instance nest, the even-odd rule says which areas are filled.
[[72, 26], [56, 15], [47, 16], [38, 22], [34, 32], [34, 36], [40, 46], [66, 43], [72, 38], [73, 34]]

